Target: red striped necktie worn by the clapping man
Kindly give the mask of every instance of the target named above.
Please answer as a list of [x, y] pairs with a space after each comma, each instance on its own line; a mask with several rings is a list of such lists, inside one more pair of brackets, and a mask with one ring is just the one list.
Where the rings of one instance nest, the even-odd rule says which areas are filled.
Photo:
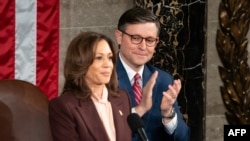
[[134, 96], [135, 96], [135, 101], [136, 101], [136, 105], [138, 105], [141, 101], [141, 96], [142, 96], [142, 89], [139, 83], [141, 76], [139, 73], [136, 73], [134, 76], [134, 84], [132, 85], [132, 89], [134, 92]]

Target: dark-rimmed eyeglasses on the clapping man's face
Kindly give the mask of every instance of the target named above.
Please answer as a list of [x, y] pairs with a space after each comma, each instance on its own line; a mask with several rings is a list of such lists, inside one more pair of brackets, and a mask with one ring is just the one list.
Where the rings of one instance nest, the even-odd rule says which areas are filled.
[[[121, 31], [121, 30], [120, 30], [120, 31]], [[158, 41], [159, 41], [158, 38], [153, 38], [153, 37], [143, 38], [143, 37], [141, 37], [140, 35], [131, 35], [131, 34], [128, 34], [127, 32], [125, 32], [125, 31], [121, 31], [121, 32], [122, 32], [123, 34], [125, 34], [125, 35], [130, 36], [131, 42], [132, 42], [133, 44], [140, 44], [140, 43], [142, 42], [142, 40], [145, 39], [146, 45], [147, 45], [148, 47], [153, 47], [153, 46], [155, 46], [155, 45], [158, 43]]]

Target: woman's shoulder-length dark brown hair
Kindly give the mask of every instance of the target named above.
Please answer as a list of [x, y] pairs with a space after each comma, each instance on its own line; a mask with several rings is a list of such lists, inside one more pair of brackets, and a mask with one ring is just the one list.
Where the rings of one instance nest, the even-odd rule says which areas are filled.
[[107, 41], [113, 53], [113, 71], [110, 82], [106, 84], [109, 94], [116, 95], [118, 82], [116, 75], [116, 48], [112, 39], [104, 34], [97, 32], [81, 32], [69, 44], [64, 62], [65, 84], [63, 93], [66, 91], [75, 91], [78, 97], [88, 98], [92, 93], [85, 81], [85, 75], [89, 66], [95, 58], [97, 43], [101, 40]]

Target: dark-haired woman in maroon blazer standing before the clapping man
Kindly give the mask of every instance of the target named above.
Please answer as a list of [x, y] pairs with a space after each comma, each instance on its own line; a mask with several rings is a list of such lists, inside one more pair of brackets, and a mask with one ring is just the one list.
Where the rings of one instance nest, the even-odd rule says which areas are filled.
[[54, 141], [131, 141], [129, 95], [118, 89], [115, 46], [83, 32], [70, 43], [62, 94], [49, 104]]

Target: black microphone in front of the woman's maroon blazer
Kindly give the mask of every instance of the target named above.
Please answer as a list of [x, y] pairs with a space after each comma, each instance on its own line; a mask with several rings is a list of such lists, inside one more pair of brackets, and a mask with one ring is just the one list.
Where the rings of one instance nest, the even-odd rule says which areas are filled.
[[137, 132], [142, 141], [149, 141], [144, 129], [144, 123], [138, 114], [132, 113], [128, 115], [127, 122], [132, 132]]

